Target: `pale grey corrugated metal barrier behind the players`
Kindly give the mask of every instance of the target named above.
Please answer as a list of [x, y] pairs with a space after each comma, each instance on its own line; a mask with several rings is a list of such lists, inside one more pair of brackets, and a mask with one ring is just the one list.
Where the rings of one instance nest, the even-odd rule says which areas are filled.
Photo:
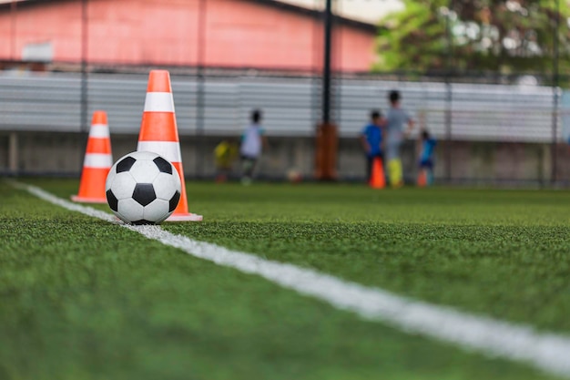
[[[87, 119], [107, 111], [111, 133], [137, 133], [142, 117], [145, 75], [90, 74]], [[239, 134], [249, 112], [261, 108], [270, 135], [312, 136], [319, 122], [321, 88], [310, 77], [207, 77], [203, 119], [198, 122], [196, 77], [173, 76], [172, 87], [181, 135]], [[402, 92], [402, 106], [422, 118], [433, 134], [462, 140], [552, 140], [554, 93], [551, 87], [471, 85], [342, 79], [333, 89], [333, 116], [341, 136], [354, 137], [372, 108], [388, 108], [391, 89]], [[451, 90], [451, 102], [448, 101]], [[562, 98], [559, 97], [559, 98]], [[564, 104], [563, 104], [564, 106]], [[568, 109], [559, 108], [565, 115]], [[559, 118], [564, 121], [566, 118]], [[88, 121], [87, 120], [87, 121]], [[198, 126], [203, 126], [198, 130]], [[0, 130], [81, 130], [81, 76], [73, 73], [0, 72]], [[562, 139], [558, 123], [556, 137]]]

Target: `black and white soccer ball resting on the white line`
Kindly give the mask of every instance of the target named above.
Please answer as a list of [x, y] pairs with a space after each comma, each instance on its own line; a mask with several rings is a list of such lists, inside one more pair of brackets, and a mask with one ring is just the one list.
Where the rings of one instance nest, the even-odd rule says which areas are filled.
[[177, 169], [148, 151], [118, 159], [105, 182], [111, 211], [131, 224], [158, 224], [167, 219], [178, 206], [180, 187]]

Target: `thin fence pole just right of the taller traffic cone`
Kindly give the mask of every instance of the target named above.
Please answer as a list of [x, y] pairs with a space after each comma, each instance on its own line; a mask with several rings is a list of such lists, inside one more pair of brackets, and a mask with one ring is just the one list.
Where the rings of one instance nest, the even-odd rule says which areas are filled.
[[204, 107], [205, 107], [205, 77], [204, 56], [206, 51], [206, 0], [198, 3], [198, 59], [197, 59], [197, 92], [196, 92], [196, 134], [198, 145], [196, 147], [196, 176], [202, 177], [204, 169]]

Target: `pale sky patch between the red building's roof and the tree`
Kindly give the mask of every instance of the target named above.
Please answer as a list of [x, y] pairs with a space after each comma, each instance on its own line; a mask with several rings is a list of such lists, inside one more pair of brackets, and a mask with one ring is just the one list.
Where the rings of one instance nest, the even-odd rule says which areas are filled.
[[[283, 3], [322, 9], [324, 0], [279, 0]], [[403, 8], [400, 0], [332, 0], [336, 13], [347, 18], [377, 24], [382, 15]]]

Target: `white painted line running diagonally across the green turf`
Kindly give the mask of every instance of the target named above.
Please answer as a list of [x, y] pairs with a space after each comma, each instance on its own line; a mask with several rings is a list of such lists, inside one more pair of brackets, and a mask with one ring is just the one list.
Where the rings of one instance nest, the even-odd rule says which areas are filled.
[[[117, 222], [111, 214], [62, 200], [35, 186], [19, 182], [13, 184], [67, 210]], [[414, 301], [310, 269], [270, 262], [208, 242], [193, 241], [164, 231], [158, 226], [120, 225], [200, 259], [260, 275], [284, 288], [331, 303], [338, 309], [357, 313], [364, 319], [381, 321], [410, 334], [422, 334], [490, 356], [525, 362], [550, 374], [570, 377], [568, 336], [538, 333], [528, 325], [510, 324], [462, 313], [449, 307]]]

